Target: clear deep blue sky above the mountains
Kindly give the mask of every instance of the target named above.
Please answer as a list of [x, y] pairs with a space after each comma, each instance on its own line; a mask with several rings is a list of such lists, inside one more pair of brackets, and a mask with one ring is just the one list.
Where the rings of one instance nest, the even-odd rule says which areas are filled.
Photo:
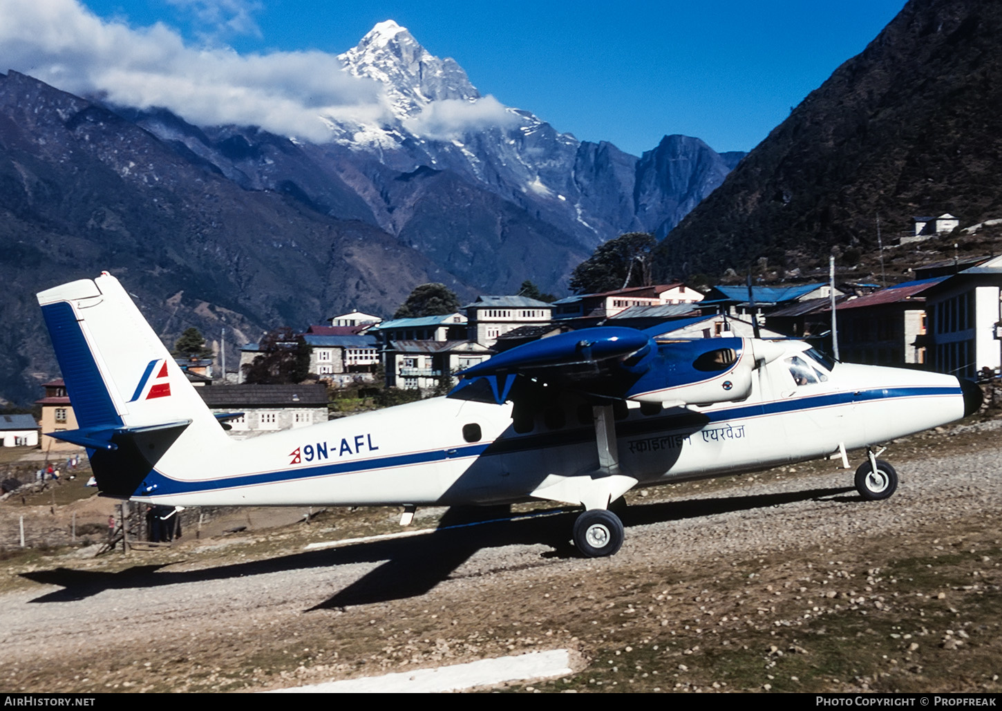
[[528, 109], [580, 139], [608, 140], [639, 154], [666, 133], [698, 136], [718, 151], [750, 150], [791, 107], [861, 52], [905, 3], [82, 4], [104, 21], [139, 30], [161, 22], [191, 48], [231, 47], [241, 56], [302, 50], [338, 54], [377, 22], [394, 19], [431, 53], [456, 59], [482, 93]]

